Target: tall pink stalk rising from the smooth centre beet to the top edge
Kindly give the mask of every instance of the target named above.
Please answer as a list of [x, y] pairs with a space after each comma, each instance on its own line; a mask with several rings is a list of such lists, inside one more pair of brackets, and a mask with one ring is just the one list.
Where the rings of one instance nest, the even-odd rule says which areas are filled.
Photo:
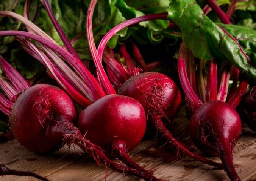
[[96, 49], [96, 45], [93, 38], [93, 32], [92, 32], [92, 16], [94, 12], [95, 5], [97, 3], [97, 0], [92, 0], [88, 11], [87, 11], [87, 18], [86, 18], [86, 34], [87, 34], [87, 40], [89, 44], [89, 49], [92, 55], [92, 59], [94, 61], [95, 67], [97, 69], [97, 79], [100, 83], [103, 90], [105, 90], [106, 94], [116, 94], [116, 91], [112, 87], [108, 76], [106, 75], [105, 70], [103, 69], [101, 65], [101, 59], [98, 56], [98, 52]]

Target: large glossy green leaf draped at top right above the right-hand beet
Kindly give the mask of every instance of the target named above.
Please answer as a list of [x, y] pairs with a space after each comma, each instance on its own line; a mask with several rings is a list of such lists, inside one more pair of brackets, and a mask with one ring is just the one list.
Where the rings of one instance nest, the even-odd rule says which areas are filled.
[[[180, 27], [183, 41], [195, 57], [230, 60], [240, 71], [256, 80], [256, 69], [247, 61], [239, 45], [203, 14], [195, 0], [172, 0], [167, 11], [168, 18]], [[247, 34], [247, 37], [254, 37], [256, 31], [250, 32], [252, 34]], [[255, 42], [253, 46], [256, 46]]]

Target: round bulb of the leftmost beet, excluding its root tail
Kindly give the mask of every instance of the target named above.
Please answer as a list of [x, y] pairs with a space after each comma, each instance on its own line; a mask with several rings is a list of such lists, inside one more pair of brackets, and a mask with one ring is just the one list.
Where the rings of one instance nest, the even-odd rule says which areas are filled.
[[15, 101], [10, 123], [15, 138], [35, 153], [50, 153], [62, 146], [62, 123], [77, 118], [76, 108], [67, 94], [55, 86], [37, 84]]

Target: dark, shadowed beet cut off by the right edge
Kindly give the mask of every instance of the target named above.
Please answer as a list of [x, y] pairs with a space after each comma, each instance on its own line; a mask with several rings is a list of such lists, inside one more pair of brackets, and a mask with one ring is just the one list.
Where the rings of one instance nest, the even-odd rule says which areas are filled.
[[251, 130], [256, 132], [256, 86], [244, 96], [240, 107], [242, 119]]

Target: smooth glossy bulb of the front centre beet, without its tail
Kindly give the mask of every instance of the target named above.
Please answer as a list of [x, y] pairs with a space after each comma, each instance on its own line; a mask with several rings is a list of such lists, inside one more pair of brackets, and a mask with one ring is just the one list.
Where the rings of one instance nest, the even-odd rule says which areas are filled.
[[128, 150], [137, 146], [145, 133], [146, 117], [133, 98], [107, 95], [83, 110], [78, 127], [88, 140], [112, 153], [116, 144], [125, 144]]

